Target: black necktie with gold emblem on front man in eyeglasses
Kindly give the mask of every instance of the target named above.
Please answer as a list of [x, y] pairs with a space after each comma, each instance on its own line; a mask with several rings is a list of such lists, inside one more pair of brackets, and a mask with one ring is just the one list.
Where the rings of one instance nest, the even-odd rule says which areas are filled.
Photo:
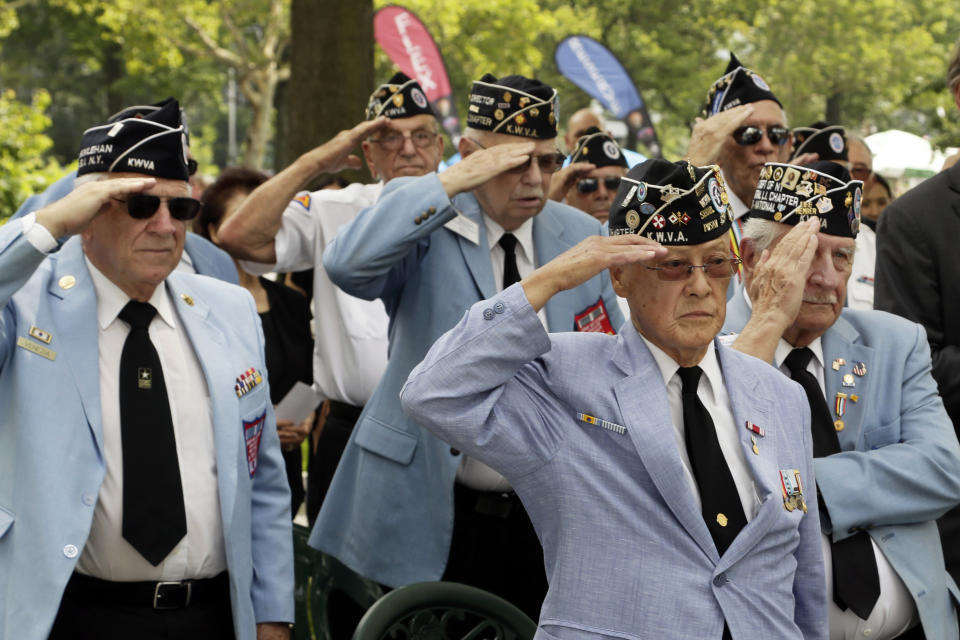
[[727, 550], [740, 530], [746, 526], [743, 505], [730, 467], [723, 457], [717, 430], [707, 408], [697, 397], [700, 367], [680, 367], [677, 371], [683, 383], [683, 431], [693, 477], [700, 490], [700, 505], [707, 529], [713, 536], [720, 555]]

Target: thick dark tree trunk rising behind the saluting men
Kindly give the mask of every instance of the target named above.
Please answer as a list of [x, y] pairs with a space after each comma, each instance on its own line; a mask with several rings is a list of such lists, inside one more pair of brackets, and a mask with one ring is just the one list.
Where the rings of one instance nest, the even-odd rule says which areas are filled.
[[[363, 120], [373, 91], [373, 0], [292, 0], [290, 81], [276, 169]], [[359, 150], [358, 150], [359, 152]], [[369, 180], [366, 170], [348, 180]]]

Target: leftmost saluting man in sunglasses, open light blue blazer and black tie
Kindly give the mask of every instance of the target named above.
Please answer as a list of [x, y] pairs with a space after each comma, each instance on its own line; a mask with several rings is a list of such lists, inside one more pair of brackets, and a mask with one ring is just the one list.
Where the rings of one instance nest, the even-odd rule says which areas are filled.
[[75, 190], [0, 229], [5, 640], [289, 635], [257, 311], [173, 272], [200, 208], [179, 111], [87, 130]]

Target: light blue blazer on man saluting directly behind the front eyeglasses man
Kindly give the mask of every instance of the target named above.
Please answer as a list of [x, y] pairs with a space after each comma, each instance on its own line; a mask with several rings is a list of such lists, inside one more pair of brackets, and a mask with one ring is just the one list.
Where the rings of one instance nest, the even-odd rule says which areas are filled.
[[[456, 209], [475, 226], [476, 241], [444, 227]], [[548, 202], [533, 219], [536, 264], [601, 232], [596, 219]], [[470, 305], [496, 293], [480, 205], [469, 193], [451, 203], [435, 174], [391, 180], [376, 205], [341, 229], [323, 264], [350, 295], [383, 300], [390, 359], [353, 430], [310, 544], [392, 587], [438, 580], [450, 547], [460, 455], [405, 415], [399, 394], [434, 340]], [[574, 316], [601, 299], [613, 327], [620, 326], [604, 273], [550, 301], [550, 329], [572, 330]]]

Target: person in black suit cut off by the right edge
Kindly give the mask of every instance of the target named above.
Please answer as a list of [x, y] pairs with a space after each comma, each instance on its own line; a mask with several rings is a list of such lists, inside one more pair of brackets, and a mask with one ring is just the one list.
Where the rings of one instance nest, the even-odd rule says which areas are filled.
[[[960, 43], [947, 83], [960, 108]], [[903, 194], [877, 223], [874, 307], [927, 330], [933, 377], [960, 433], [960, 166]], [[960, 507], [940, 518], [947, 570], [960, 582]]]

